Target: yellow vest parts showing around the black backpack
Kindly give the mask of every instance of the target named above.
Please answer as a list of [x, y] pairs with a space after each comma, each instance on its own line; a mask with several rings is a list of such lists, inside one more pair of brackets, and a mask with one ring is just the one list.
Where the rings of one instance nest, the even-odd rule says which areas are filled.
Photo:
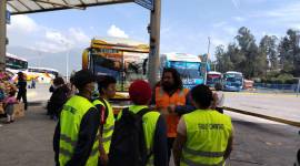
[[[129, 111], [137, 114], [139, 111], [141, 111], [142, 108], [146, 108], [146, 107], [147, 106], [144, 106], [144, 105], [132, 105], [129, 107]], [[121, 116], [122, 116], [122, 112], [119, 113], [117, 120], [120, 120]], [[153, 137], [154, 137], [157, 122], [158, 122], [159, 116], [160, 116], [160, 113], [156, 112], [156, 111], [151, 111], [142, 116], [143, 134], [144, 134], [148, 155], [153, 149]], [[148, 159], [147, 166], [153, 165], [153, 162], [154, 162], [154, 157], [153, 157], [153, 155], [151, 155]]]

